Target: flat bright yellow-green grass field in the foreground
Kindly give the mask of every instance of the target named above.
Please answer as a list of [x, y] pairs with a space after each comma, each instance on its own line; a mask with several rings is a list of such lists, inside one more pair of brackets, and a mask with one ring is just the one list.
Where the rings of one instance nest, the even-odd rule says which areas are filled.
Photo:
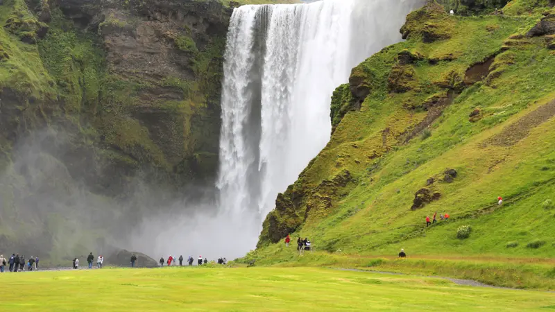
[[555, 309], [555, 293], [324, 268], [106, 268], [5, 273], [1, 281], [0, 311]]

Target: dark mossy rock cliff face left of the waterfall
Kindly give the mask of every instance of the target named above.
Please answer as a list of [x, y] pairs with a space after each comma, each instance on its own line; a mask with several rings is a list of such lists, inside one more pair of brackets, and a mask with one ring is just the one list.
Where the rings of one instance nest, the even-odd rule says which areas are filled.
[[144, 189], [213, 185], [231, 12], [220, 1], [0, 1], [4, 246], [49, 252], [87, 232], [69, 221], [133, 223], [152, 200]]

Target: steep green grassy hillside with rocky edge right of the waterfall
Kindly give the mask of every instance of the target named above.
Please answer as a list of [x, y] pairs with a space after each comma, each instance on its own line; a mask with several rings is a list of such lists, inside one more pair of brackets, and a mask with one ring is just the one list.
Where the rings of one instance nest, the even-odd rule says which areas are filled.
[[434, 1], [411, 13], [407, 41], [336, 90], [329, 144], [278, 196], [247, 259], [298, 260], [288, 233], [368, 257], [553, 257], [555, 51], [538, 29], [555, 12], [520, 2], [509, 6], [526, 15], [450, 17]]

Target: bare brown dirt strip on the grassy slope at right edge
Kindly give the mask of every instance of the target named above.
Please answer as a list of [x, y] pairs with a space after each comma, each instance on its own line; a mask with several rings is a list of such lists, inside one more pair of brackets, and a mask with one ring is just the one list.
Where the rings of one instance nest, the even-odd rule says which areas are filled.
[[528, 136], [531, 129], [555, 116], [555, 101], [538, 107], [533, 112], [505, 127], [502, 132], [484, 141], [483, 146], [513, 146]]

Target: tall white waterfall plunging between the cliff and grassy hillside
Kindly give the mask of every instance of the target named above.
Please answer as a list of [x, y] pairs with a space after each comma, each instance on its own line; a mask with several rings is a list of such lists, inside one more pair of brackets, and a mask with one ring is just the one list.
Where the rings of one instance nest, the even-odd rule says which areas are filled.
[[234, 9], [218, 181], [221, 209], [232, 220], [248, 217], [259, 230], [278, 192], [330, 139], [334, 89], [364, 58], [398, 42], [404, 17], [422, 2], [323, 0]]

